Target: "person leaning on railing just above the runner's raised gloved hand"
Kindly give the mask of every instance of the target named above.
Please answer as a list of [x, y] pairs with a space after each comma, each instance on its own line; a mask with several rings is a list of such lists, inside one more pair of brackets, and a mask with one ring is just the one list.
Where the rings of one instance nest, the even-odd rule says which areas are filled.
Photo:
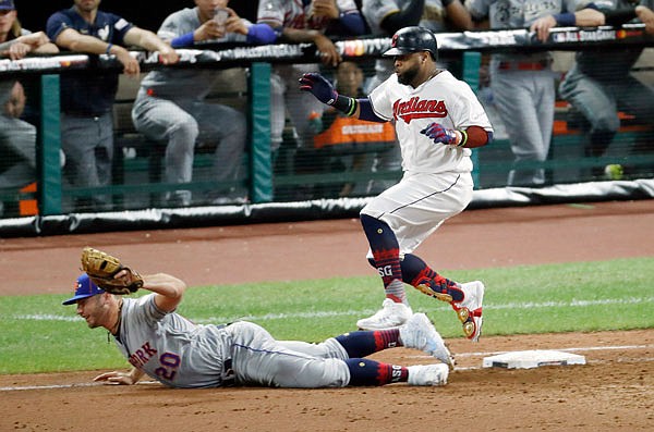
[[[275, 29], [279, 42], [315, 44], [323, 64], [336, 67], [341, 57], [326, 35], [339, 38], [362, 35], [365, 22], [354, 0], [259, 0], [257, 22]], [[316, 71], [317, 64], [277, 64], [270, 78], [271, 148], [282, 140], [286, 113], [300, 139], [312, 136], [310, 115], [323, 112], [323, 104], [298, 89], [298, 76]], [[286, 106], [286, 110], [284, 110]]]

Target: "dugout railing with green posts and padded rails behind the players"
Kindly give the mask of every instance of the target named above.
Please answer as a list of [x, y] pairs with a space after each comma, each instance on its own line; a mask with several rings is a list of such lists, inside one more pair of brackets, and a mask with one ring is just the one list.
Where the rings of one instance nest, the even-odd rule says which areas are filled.
[[[500, 32], [465, 32], [438, 35], [440, 55], [448, 62], [452, 72], [467, 81], [473, 89], [480, 88], [480, 70], [492, 52], [505, 50], [552, 50], [573, 52], [581, 49], [606, 47], [620, 49], [625, 47], [651, 47], [654, 39], [644, 34], [642, 25], [623, 26], [622, 28], [557, 28], [546, 44], [536, 42], [526, 30]], [[379, 58], [389, 46], [386, 38], [341, 40], [337, 42], [343, 59], [361, 64], [370, 64]], [[294, 169], [292, 124], [284, 129], [284, 141], [277, 151], [270, 150], [270, 73], [277, 63], [313, 63], [316, 62], [315, 47], [312, 45], [277, 45], [265, 47], [203, 47], [202, 50], [180, 50], [181, 61], [172, 67], [211, 67], [216, 70], [238, 69], [242, 71], [245, 85], [231, 88], [228, 83], [218, 89], [214, 97], [217, 100], [232, 98], [246, 112], [249, 119], [247, 152], [243, 163], [249, 171], [245, 186], [249, 189], [249, 201], [215, 206], [209, 202], [196, 202], [192, 208], [162, 208], [155, 197], [179, 185], [161, 183], [162, 145], [148, 141], [134, 129], [130, 129], [129, 120], [117, 121], [116, 146], [118, 157], [114, 158], [114, 182], [107, 187], [75, 187], [66, 184], [59, 164], [59, 76], [72, 71], [93, 73], [97, 67], [118, 67], [114, 59], [100, 55], [90, 62], [89, 57], [81, 54], [61, 54], [48, 58], [28, 58], [21, 61], [0, 60], [0, 79], [36, 77], [38, 83], [39, 123], [38, 123], [38, 174], [36, 192], [25, 189], [5, 189], [0, 186], [0, 200], [4, 208], [17, 208], [11, 203], [21, 201], [37, 202], [38, 214], [14, 218], [16, 214], [4, 213], [0, 220], [0, 231], [5, 235], [29, 235], [62, 233], [72, 231], [104, 231], [112, 229], [180, 226], [217, 223], [242, 223], [279, 219], [314, 219], [322, 217], [353, 215], [365, 203], [366, 196], [360, 194], [349, 198], [320, 196], [320, 188], [314, 188], [313, 195], [298, 194], [307, 185], [334, 184], [342, 182], [397, 181], [401, 171], [399, 166], [391, 170], [367, 172], [316, 170], [315, 173], [299, 172]], [[144, 71], [165, 67], [158, 64], [156, 53], [133, 52]], [[647, 73], [647, 65], [642, 71]], [[324, 71], [327, 75], [329, 70]], [[134, 94], [122, 98], [118, 103], [123, 111], [129, 111]], [[118, 107], [117, 107], [118, 108]], [[586, 168], [604, 166], [609, 163], [632, 164], [639, 168], [640, 174], [633, 178], [623, 178], [620, 185], [609, 187], [586, 184], [583, 188], [574, 187], [573, 194], [566, 189], [559, 193], [550, 190], [526, 190], [524, 188], [507, 188], [506, 173], [514, 168], [512, 156], [508, 149], [506, 137], [497, 136], [492, 146], [475, 150], [475, 183], [480, 194], [475, 196], [479, 206], [545, 202], [566, 199], [602, 199], [614, 197], [651, 196], [652, 166], [654, 156], [647, 151], [629, 155], [627, 145], [633, 140], [649, 141], [651, 126], [645, 124], [625, 125], [617, 138], [613, 153], [602, 158], [586, 158], [580, 155], [583, 134], [578, 124], [570, 121], [569, 107], [559, 101], [557, 122], [553, 131], [550, 158], [545, 162], [529, 162], [524, 165], [537, 165], [548, 170], [550, 184], [559, 187], [596, 178], [584, 177], [581, 172]], [[654, 114], [654, 113], [653, 113]], [[123, 112], [124, 118], [124, 112]], [[118, 116], [118, 114], [117, 114]], [[122, 124], [122, 125], [121, 125]], [[128, 127], [124, 128], [124, 124]], [[123, 150], [124, 149], [124, 150]], [[290, 149], [290, 151], [289, 151]], [[625, 151], [622, 151], [625, 150]], [[622, 153], [621, 153], [622, 151]], [[208, 155], [198, 151], [196, 168], [206, 168]], [[125, 178], [130, 177], [130, 181]], [[635, 183], [632, 183], [635, 181]], [[196, 180], [184, 188], [194, 192], [211, 190], [216, 183], [210, 180]], [[34, 188], [28, 189], [34, 190]], [[317, 190], [317, 195], [316, 192]], [[66, 207], [66, 201], [75, 197], [88, 197], [96, 194], [111, 194], [114, 209], [111, 212], [92, 213], [83, 208]], [[517, 199], [513, 199], [518, 195]], [[131, 198], [131, 202], [125, 200]], [[336, 199], [326, 199], [336, 198]], [[9, 203], [9, 205], [8, 205]], [[34, 205], [26, 208], [32, 208]], [[156, 210], [156, 211], [148, 211]], [[29, 212], [29, 210], [27, 210]], [[20, 215], [20, 212], [19, 214]], [[10, 219], [11, 218], [11, 219]]]

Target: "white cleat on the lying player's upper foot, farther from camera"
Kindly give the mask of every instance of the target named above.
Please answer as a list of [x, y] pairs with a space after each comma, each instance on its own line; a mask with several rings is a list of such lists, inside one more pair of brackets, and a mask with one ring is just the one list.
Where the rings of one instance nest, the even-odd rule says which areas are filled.
[[426, 314], [414, 313], [400, 328], [400, 338], [404, 347], [425, 351], [446, 363], [450, 370], [455, 369], [452, 355]]

